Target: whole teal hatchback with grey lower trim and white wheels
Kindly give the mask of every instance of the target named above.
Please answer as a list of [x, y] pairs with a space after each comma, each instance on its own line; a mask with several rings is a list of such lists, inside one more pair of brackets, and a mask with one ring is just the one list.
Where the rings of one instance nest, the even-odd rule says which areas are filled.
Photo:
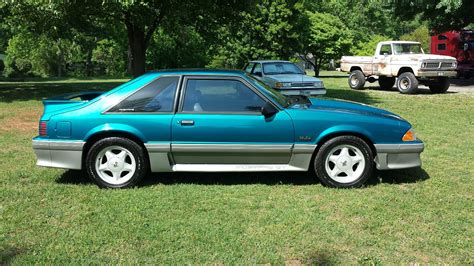
[[388, 111], [297, 102], [242, 71], [150, 72], [109, 92], [44, 101], [37, 165], [83, 169], [100, 187], [148, 172], [311, 171], [359, 187], [380, 170], [418, 167], [423, 142]]

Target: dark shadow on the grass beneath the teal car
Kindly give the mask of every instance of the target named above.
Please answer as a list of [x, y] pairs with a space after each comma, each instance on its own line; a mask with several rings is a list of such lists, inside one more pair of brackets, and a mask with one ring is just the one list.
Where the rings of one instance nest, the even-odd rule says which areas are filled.
[[[429, 179], [428, 173], [421, 168], [377, 171], [374, 170], [366, 186], [378, 184], [406, 184], [416, 183]], [[68, 170], [57, 180], [59, 184], [85, 185], [93, 182], [82, 171]], [[138, 186], [153, 185], [315, 185], [320, 184], [319, 179], [311, 172], [252, 172], [252, 173], [151, 173], [142, 180]]]

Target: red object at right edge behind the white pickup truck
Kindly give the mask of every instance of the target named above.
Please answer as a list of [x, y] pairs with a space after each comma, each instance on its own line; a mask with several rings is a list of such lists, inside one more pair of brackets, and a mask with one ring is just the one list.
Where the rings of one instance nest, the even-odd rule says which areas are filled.
[[448, 31], [431, 36], [431, 53], [455, 57], [459, 77], [474, 77], [474, 31]]

